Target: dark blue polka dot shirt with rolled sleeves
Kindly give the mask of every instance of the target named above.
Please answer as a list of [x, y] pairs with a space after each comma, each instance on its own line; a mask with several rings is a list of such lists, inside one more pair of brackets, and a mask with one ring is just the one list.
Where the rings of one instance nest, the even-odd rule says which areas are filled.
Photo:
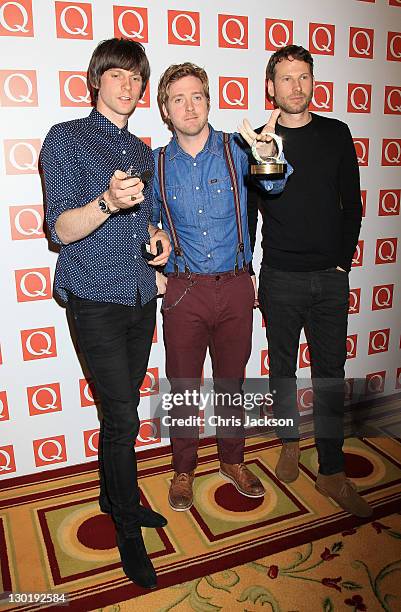
[[133, 306], [138, 294], [145, 304], [157, 294], [155, 271], [141, 256], [149, 242], [152, 181], [145, 200], [110, 215], [94, 232], [62, 244], [55, 231], [59, 215], [84, 206], [106, 191], [115, 170], [133, 166], [154, 171], [152, 151], [128, 131], [93, 109], [89, 117], [51, 128], [41, 151], [46, 190], [46, 221], [52, 240], [61, 245], [54, 288], [63, 301], [68, 291], [97, 302]]

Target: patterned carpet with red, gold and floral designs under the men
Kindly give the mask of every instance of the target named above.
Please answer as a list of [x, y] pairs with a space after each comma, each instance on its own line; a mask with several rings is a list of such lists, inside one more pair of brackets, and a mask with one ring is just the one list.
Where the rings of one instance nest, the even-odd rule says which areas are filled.
[[[146, 595], [120, 568], [111, 519], [97, 505], [95, 464], [5, 481], [2, 590], [68, 593], [67, 609], [79, 612], [401, 609], [400, 600], [391, 607], [397, 600], [386, 599], [400, 595], [400, 441], [346, 442], [347, 473], [374, 508], [369, 522], [315, 491], [316, 452], [308, 440], [302, 446], [300, 477], [286, 486], [274, 475], [277, 440], [247, 440], [246, 463], [267, 490], [252, 500], [219, 477], [216, 447], [204, 441], [196, 503], [181, 513], [167, 503], [168, 448], [138, 454], [143, 503], [169, 520], [164, 529], [144, 530], [160, 585]], [[308, 603], [315, 596], [315, 605]], [[42, 608], [0, 603], [1, 610]]]

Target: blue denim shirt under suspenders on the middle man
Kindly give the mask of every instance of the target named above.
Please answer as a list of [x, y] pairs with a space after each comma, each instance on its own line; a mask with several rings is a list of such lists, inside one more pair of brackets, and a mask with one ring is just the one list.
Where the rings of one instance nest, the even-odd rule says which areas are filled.
[[[185, 153], [174, 136], [166, 149], [165, 183], [167, 203], [178, 234], [181, 249], [191, 272], [214, 274], [233, 270], [236, 261], [238, 232], [235, 203], [230, 175], [224, 156], [223, 132], [209, 126], [210, 133], [202, 151], [196, 157]], [[230, 134], [230, 147], [238, 178], [241, 206], [245, 263], [252, 260], [247, 220], [247, 187], [249, 159], [238, 134]], [[163, 228], [170, 228], [162, 206], [157, 173], [160, 148], [155, 157], [154, 205], [152, 223], [160, 220]], [[280, 193], [292, 172], [289, 167], [284, 179], [259, 180], [265, 191]], [[173, 242], [172, 242], [173, 246]], [[166, 272], [174, 270], [172, 251]], [[180, 272], [184, 271], [183, 258], [177, 258]], [[243, 264], [242, 258], [239, 265]]]

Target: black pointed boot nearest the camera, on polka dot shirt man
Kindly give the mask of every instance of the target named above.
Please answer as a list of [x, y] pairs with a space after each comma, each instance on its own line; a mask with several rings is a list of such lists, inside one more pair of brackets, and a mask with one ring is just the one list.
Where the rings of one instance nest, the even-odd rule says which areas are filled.
[[121, 564], [127, 578], [144, 589], [155, 589], [156, 572], [146, 552], [140, 528], [133, 537], [126, 538], [118, 532], [116, 536]]

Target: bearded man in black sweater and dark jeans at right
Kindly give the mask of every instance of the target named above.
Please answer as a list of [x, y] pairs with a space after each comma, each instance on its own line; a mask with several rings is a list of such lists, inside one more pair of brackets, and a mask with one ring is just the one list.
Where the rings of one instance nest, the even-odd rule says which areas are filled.
[[281, 194], [251, 188], [248, 195], [253, 244], [258, 208], [263, 215], [259, 302], [267, 322], [274, 412], [294, 422], [277, 430], [283, 445], [276, 475], [283, 482], [298, 477], [295, 372], [304, 328], [314, 389], [316, 489], [347, 512], [370, 516], [370, 506], [345, 476], [342, 451], [348, 272], [362, 217], [355, 149], [345, 123], [308, 110], [314, 85], [309, 51], [290, 45], [274, 53], [266, 83], [281, 110], [276, 133], [294, 168]]

